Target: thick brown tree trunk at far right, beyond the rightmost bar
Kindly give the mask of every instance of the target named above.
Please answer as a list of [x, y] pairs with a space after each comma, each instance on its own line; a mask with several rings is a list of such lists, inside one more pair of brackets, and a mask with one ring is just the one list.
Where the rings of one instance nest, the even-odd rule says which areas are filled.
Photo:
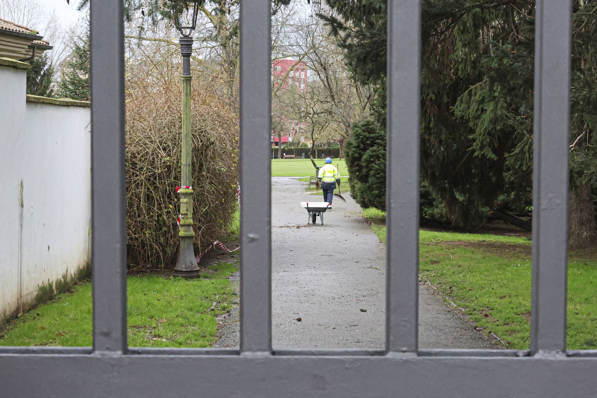
[[597, 244], [595, 206], [590, 183], [583, 183], [570, 190], [568, 195], [568, 245], [583, 249]]

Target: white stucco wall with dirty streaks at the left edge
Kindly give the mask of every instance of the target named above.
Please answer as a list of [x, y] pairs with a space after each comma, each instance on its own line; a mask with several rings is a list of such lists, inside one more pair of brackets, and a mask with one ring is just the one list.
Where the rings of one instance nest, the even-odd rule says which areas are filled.
[[0, 65], [0, 322], [90, 261], [90, 116], [27, 101], [26, 70]]

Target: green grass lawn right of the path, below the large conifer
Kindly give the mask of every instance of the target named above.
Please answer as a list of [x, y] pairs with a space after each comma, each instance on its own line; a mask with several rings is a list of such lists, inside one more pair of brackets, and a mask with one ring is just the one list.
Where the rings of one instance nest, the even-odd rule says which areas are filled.
[[[385, 214], [364, 211], [385, 241]], [[525, 237], [421, 230], [422, 278], [477, 322], [525, 350], [530, 342], [531, 242]], [[568, 261], [568, 329], [570, 350], [597, 348], [597, 253], [571, 252]]]

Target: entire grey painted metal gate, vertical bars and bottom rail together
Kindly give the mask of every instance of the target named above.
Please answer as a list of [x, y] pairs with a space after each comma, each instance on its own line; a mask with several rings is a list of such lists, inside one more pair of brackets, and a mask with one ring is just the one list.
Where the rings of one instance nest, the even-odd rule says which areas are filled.
[[565, 350], [571, 1], [537, 1], [528, 351], [417, 350], [420, 0], [389, 13], [386, 350], [272, 351], [268, 0], [241, 7], [241, 347], [127, 347], [122, 0], [94, 1], [94, 346], [0, 348], [1, 396], [597, 396], [597, 351]]

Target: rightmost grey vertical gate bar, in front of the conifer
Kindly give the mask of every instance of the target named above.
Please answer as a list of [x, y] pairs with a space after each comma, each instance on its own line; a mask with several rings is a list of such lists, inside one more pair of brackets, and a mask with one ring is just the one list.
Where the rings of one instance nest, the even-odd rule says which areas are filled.
[[531, 351], [566, 348], [570, 0], [536, 9]]

